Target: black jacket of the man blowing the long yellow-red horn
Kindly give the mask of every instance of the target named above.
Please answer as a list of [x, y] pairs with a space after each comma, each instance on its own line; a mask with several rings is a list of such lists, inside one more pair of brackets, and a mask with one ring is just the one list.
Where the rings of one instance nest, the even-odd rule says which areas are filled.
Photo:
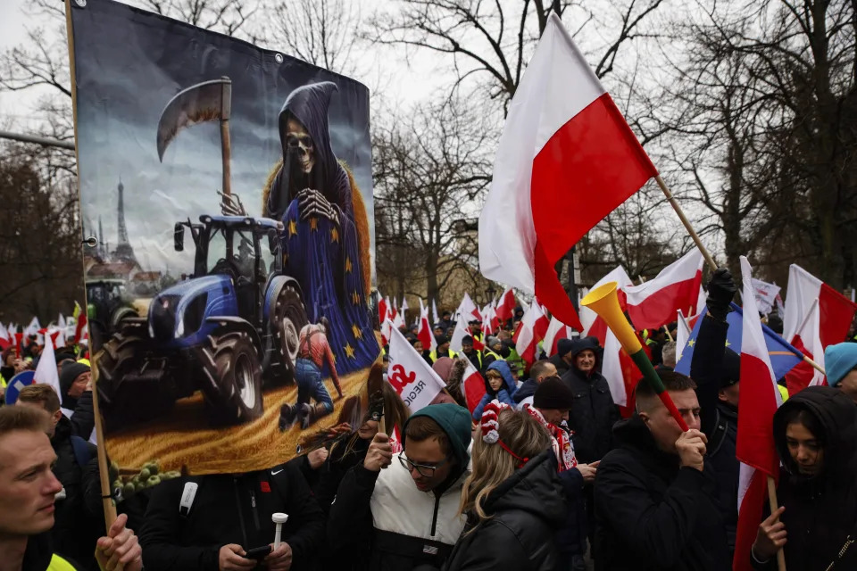
[[711, 463], [679, 468], [637, 415], [613, 432], [619, 447], [595, 476], [595, 569], [731, 569]]

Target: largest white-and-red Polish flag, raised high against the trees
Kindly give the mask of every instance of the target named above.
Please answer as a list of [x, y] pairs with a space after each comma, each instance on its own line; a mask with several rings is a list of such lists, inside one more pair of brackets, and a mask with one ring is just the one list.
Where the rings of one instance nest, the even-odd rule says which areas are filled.
[[554, 265], [657, 174], [552, 13], [520, 79], [497, 149], [479, 217], [482, 274], [536, 294], [557, 319], [581, 331]]

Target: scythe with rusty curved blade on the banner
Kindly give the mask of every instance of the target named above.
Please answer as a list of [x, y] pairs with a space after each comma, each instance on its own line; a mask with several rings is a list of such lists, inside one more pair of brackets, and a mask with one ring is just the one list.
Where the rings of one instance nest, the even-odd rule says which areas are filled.
[[167, 145], [182, 128], [204, 121], [220, 120], [220, 151], [223, 160], [223, 203], [231, 194], [231, 144], [229, 116], [232, 112], [232, 80], [212, 79], [187, 87], [176, 94], [161, 112], [158, 120], [158, 159], [163, 161]]

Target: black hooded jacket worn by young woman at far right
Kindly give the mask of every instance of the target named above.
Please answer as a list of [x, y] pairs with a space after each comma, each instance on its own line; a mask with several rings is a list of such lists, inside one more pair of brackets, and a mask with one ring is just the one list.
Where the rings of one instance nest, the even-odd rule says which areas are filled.
[[[824, 434], [824, 465], [819, 476], [802, 476], [786, 446], [786, 415], [795, 408], [818, 419]], [[857, 407], [845, 393], [811, 386], [783, 403], [774, 415], [774, 442], [783, 461], [777, 497], [785, 506], [786, 567], [827, 569], [857, 524]], [[776, 559], [769, 562], [777, 568]], [[767, 567], [761, 567], [767, 568]], [[835, 571], [857, 569], [857, 545], [837, 561]]]

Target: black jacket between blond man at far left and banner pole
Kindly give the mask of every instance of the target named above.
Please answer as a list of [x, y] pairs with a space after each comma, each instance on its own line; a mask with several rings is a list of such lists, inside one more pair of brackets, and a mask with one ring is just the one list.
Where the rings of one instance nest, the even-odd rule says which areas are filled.
[[86, 446], [89, 459], [81, 466], [71, 444], [71, 422], [60, 418], [51, 445], [56, 462], [54, 476], [62, 484], [65, 498], [57, 500], [51, 539], [54, 551], [76, 560], [88, 569], [98, 569], [93, 556], [96, 540], [104, 535], [104, 512], [101, 509], [101, 484], [98, 480], [96, 447]]

